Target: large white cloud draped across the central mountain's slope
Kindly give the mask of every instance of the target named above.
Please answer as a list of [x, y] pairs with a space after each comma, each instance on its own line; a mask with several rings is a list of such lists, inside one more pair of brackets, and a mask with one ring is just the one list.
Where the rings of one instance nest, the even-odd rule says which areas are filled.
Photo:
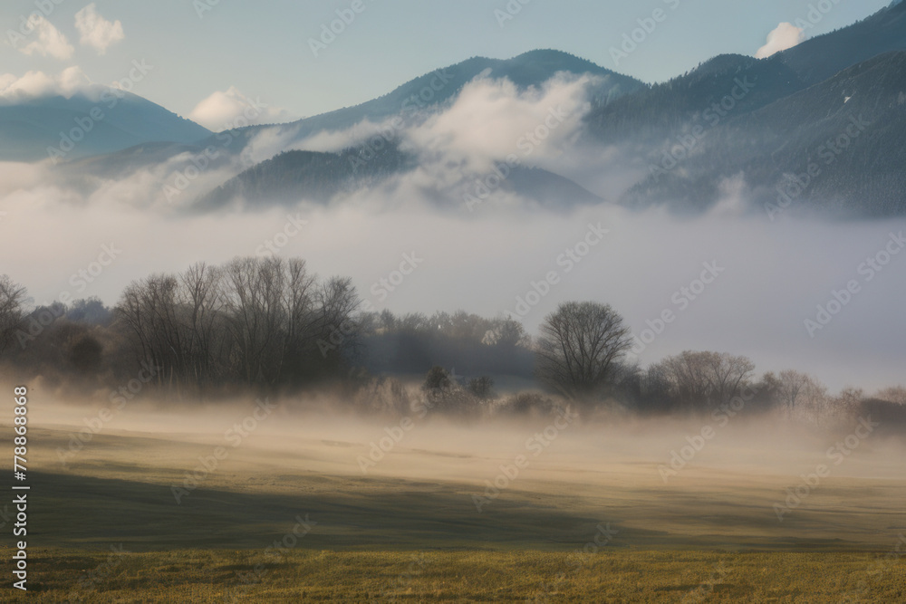
[[[582, 130], [591, 106], [589, 91], [596, 83], [592, 76], [561, 73], [539, 88], [520, 90], [507, 79], [479, 76], [450, 105], [417, 120], [362, 120], [350, 128], [320, 130], [304, 138], [295, 128], [262, 129], [246, 152], [258, 162], [294, 149], [337, 152], [366, 142], [371, 149], [381, 149], [396, 139], [401, 149], [418, 155], [420, 161], [419, 169], [398, 184], [444, 194], [513, 155], [524, 166], [556, 168], [560, 173], [564, 166], [577, 164], [578, 158], [567, 151]], [[600, 164], [594, 169], [602, 172]], [[502, 197], [506, 191], [497, 191], [497, 204]]]

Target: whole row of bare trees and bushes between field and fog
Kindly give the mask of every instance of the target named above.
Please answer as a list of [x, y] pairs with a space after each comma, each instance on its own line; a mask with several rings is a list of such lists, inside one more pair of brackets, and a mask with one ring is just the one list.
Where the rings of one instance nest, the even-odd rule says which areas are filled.
[[[424, 376], [422, 404], [464, 416], [547, 413], [564, 401], [586, 411], [706, 414], [740, 397], [750, 409], [817, 422], [866, 404], [892, 417], [906, 410], [902, 387], [873, 398], [855, 388], [832, 396], [794, 369], [757, 377], [751, 360], [729, 353], [687, 350], [642, 369], [627, 358], [628, 326], [600, 302], [562, 303], [535, 338], [513, 319], [464, 311], [361, 312], [349, 278], [319, 279], [297, 258], [240, 257], [152, 274], [130, 283], [112, 308], [97, 299], [29, 302], [22, 285], [0, 275], [0, 360], [17, 375], [89, 388], [113, 388], [144, 364], [156, 368], [153, 388], [165, 396], [331, 385], [378, 411], [411, 407], [397, 377], [413, 375]], [[498, 396], [491, 376], [537, 388]]]

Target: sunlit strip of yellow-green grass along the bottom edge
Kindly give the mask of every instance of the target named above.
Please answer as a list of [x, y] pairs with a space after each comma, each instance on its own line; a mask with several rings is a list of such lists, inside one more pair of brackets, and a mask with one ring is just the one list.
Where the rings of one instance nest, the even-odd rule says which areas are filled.
[[41, 550], [33, 564], [11, 601], [906, 601], [901, 562], [839, 551]]

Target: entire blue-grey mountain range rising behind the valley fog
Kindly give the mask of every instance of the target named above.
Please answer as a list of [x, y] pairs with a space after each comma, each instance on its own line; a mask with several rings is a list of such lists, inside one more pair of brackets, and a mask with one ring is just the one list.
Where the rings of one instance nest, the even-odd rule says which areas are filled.
[[[809, 15], [813, 21], [819, 17]], [[592, 108], [578, 135], [571, 133], [561, 143], [564, 149], [557, 149], [562, 156], [556, 165], [575, 166], [571, 176], [577, 181], [607, 190], [624, 206], [701, 212], [732, 190], [757, 211], [780, 198], [793, 211], [825, 216], [906, 214], [901, 194], [906, 185], [902, 2], [766, 59], [721, 54], [654, 85], [552, 50], [508, 60], [473, 57], [354, 107], [216, 135], [126, 95], [116, 111], [93, 124], [59, 169], [90, 187], [92, 177], [117, 179], [143, 168], [162, 166], [171, 175], [198, 169], [192, 168], [193, 160], [213, 148], [215, 154], [201, 158], [206, 169], [214, 168], [207, 172], [206, 186], [197, 187], [198, 194], [193, 191], [194, 203], [182, 206], [215, 211], [236, 203], [329, 203], [358, 190], [392, 187], [404, 175], [417, 176], [410, 185], [418, 183], [429, 199], [461, 204], [472, 194], [469, 183], [487, 175], [458, 173], [458, 166], [474, 165], [469, 158], [447, 154], [442, 141], [438, 149], [417, 149], [400, 132], [448, 110], [477, 77], [506, 78], [525, 91], [542, 87], [558, 73], [595, 77], [588, 91]], [[6, 153], [0, 158], [46, 157], [46, 140], [58, 143], [54, 138], [59, 139], [60, 130], [71, 129], [97, 105], [92, 98], [97, 97], [0, 101], [0, 153]], [[280, 152], [304, 149], [301, 143], [318, 133], [346, 139], [344, 131], [353, 126], [394, 117], [401, 118], [401, 126], [394, 126], [392, 142], [376, 154], [363, 142], [348, 142], [349, 149], [329, 153]], [[125, 149], [136, 140], [142, 142]], [[249, 144], [253, 140], [254, 146]], [[403, 140], [405, 151], [400, 149]], [[273, 150], [264, 151], [269, 148], [257, 143], [266, 141], [278, 142], [268, 143]], [[12, 150], [15, 145], [22, 150]], [[251, 157], [266, 159], [251, 165]], [[422, 158], [443, 166], [423, 165]], [[814, 176], [808, 176], [810, 169]], [[209, 190], [212, 181], [219, 186]], [[545, 206], [601, 202], [577, 182], [537, 168], [514, 168], [497, 188]]]

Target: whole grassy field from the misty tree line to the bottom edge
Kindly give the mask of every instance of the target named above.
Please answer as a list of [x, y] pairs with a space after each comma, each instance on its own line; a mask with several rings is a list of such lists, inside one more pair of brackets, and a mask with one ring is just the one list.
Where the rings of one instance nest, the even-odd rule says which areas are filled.
[[165, 436], [136, 412], [65, 465], [79, 422], [54, 417], [30, 431], [30, 593], [0, 599], [906, 602], [906, 469], [880, 436], [780, 522], [828, 437], [727, 432], [665, 483], [694, 427], [571, 427], [479, 512], [544, 423], [425, 424], [362, 473], [381, 424], [282, 417], [177, 503], [232, 416]]

